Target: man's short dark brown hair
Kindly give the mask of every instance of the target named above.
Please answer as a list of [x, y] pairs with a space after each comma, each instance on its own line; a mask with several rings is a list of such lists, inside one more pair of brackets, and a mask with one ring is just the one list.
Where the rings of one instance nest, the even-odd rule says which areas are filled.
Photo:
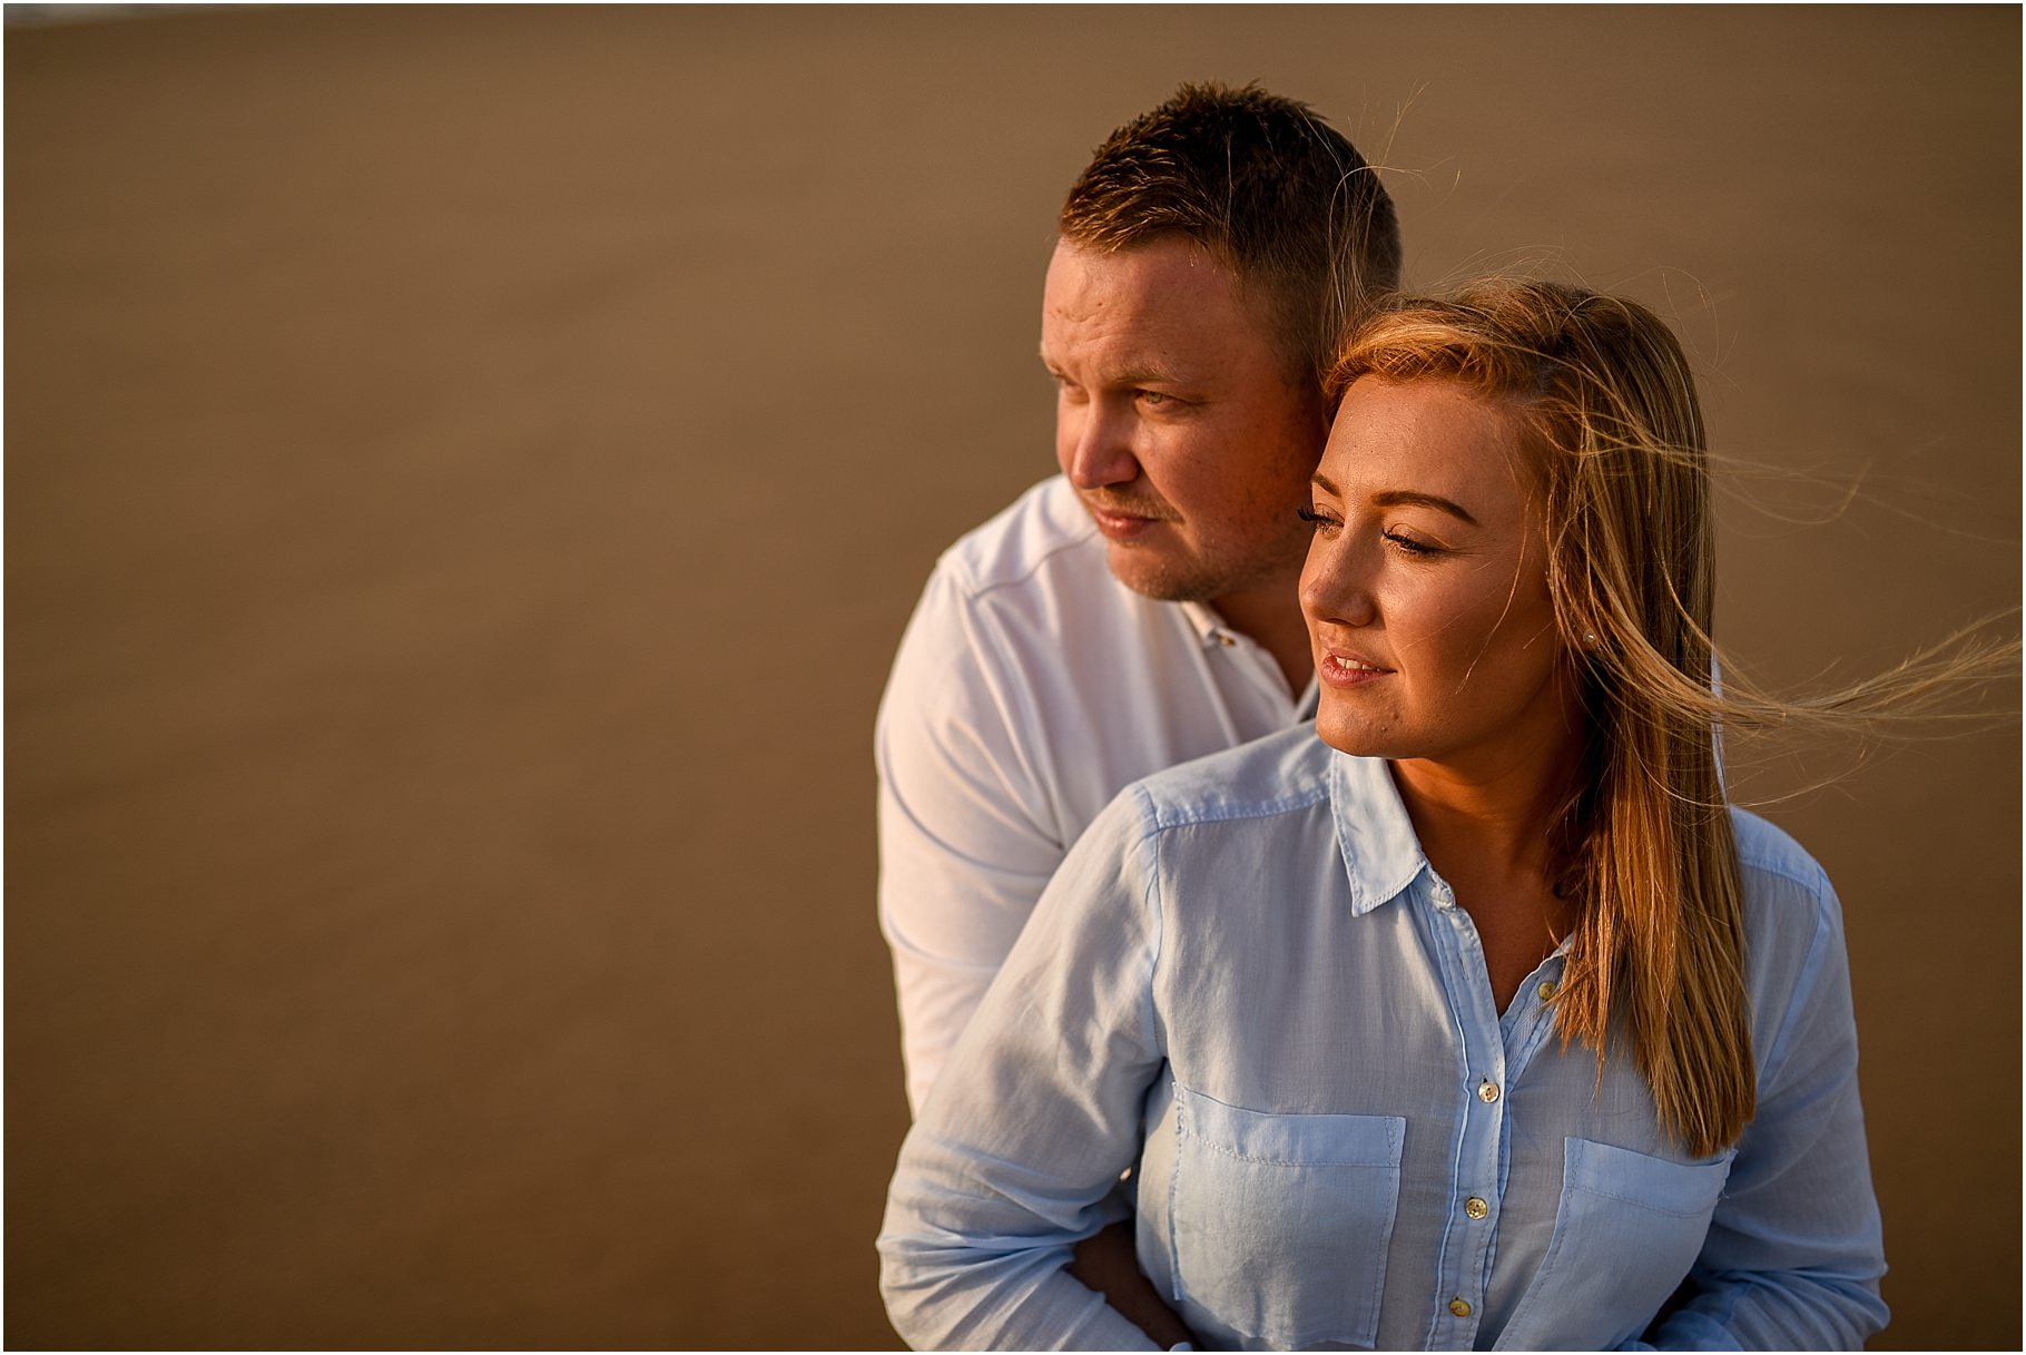
[[1084, 249], [1183, 235], [1264, 302], [1301, 379], [1400, 286], [1400, 225], [1378, 172], [1307, 103], [1258, 85], [1183, 85], [1098, 146], [1058, 219]]

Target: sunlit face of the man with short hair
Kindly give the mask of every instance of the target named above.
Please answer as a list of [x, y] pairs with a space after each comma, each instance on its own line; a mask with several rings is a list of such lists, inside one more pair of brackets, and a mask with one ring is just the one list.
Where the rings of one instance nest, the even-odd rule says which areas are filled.
[[1116, 253], [1056, 245], [1041, 296], [1056, 460], [1139, 593], [1293, 602], [1309, 545], [1297, 512], [1329, 423], [1260, 310], [1179, 237]]

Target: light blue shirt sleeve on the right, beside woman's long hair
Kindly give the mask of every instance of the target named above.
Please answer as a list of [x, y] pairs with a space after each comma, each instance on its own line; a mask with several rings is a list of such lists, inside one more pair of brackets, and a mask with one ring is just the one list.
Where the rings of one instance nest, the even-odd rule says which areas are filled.
[[1815, 936], [1763, 1053], [1759, 1114], [1690, 1272], [1694, 1296], [1649, 1333], [1653, 1349], [1854, 1351], [1886, 1325], [1842, 911], [1825, 877], [1813, 895]]

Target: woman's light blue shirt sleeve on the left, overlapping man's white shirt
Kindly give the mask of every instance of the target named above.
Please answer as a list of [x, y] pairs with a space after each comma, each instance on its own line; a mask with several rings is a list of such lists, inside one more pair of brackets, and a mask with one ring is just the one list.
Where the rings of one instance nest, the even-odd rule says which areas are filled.
[[1066, 1270], [1141, 1148], [1165, 1039], [1153, 836], [1078, 839], [902, 1144], [881, 1290], [916, 1349], [1159, 1349]]

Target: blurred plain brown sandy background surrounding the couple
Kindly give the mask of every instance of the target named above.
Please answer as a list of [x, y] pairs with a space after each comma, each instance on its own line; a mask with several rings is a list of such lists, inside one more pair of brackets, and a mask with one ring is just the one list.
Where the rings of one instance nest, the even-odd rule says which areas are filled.
[[[1698, 358], [1720, 636], [2020, 591], [2020, 12], [10, 10], [6, 1343], [889, 1347], [871, 717], [1183, 79]], [[1836, 510], [1842, 490], [1862, 484]], [[1825, 486], [1825, 488], [1823, 488]], [[2014, 622], [2016, 624], [2016, 622]], [[2012, 703], [2016, 693], [2004, 693]], [[1787, 798], [1896, 1319], [2020, 1343], [2020, 741]]]

